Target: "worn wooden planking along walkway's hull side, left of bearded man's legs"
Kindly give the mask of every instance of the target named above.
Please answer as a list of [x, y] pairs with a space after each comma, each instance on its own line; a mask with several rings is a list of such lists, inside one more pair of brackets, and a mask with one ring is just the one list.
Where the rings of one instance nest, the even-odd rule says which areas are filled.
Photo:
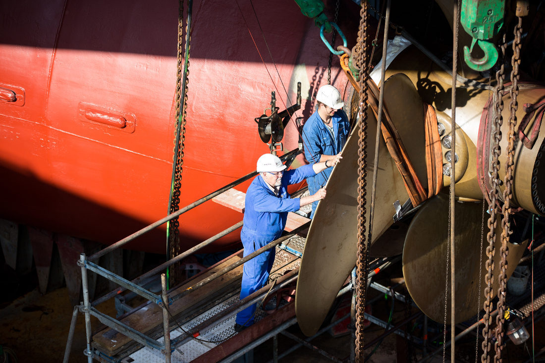
[[[199, 280], [192, 280], [183, 286], [175, 289], [173, 292], [169, 293], [169, 296], [174, 296], [181, 291], [195, 285], [197, 281], [203, 280], [206, 277], [216, 273], [217, 271], [222, 270], [228, 265], [231, 265], [237, 262], [241, 258], [240, 256], [233, 256], [229, 258], [226, 262], [217, 265], [215, 268], [205, 271], [199, 277]], [[226, 285], [233, 283], [234, 281], [241, 279], [243, 271], [243, 265], [229, 271], [224, 276], [209, 282], [207, 285], [193, 291], [191, 294], [186, 295], [185, 297], [174, 301], [174, 303], [169, 307], [172, 315], [175, 316], [181, 311], [192, 310], [196, 305], [208, 300], [215, 291], [221, 290]], [[155, 328], [159, 324], [162, 324], [162, 309], [156, 304], [148, 304], [145, 307], [141, 308], [138, 311], [130, 314], [129, 316], [121, 319], [121, 322], [131, 326], [140, 332], [146, 334], [146, 332]], [[98, 332], [93, 336], [94, 345], [99, 349], [106, 352], [108, 355], [115, 355], [121, 349], [124, 348], [125, 344], [131, 342], [129, 337], [124, 336], [120, 332], [117, 332], [113, 329], [106, 329]]]

